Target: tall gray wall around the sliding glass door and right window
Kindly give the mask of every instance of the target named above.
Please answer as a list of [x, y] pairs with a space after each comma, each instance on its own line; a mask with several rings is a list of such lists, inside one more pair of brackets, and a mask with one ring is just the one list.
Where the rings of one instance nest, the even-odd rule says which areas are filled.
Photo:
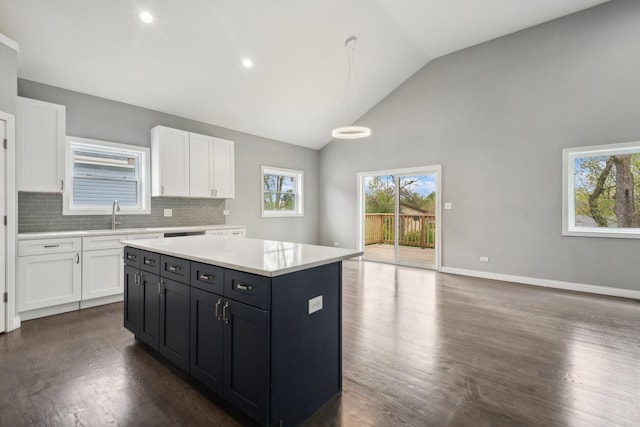
[[321, 151], [321, 243], [356, 246], [357, 172], [441, 164], [444, 266], [640, 290], [639, 240], [561, 235], [562, 149], [640, 140], [639, 46], [614, 1], [430, 62]]

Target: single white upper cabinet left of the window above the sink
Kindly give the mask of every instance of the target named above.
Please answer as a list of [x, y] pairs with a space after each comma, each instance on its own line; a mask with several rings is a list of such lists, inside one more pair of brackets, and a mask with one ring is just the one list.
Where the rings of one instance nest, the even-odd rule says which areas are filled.
[[18, 191], [64, 190], [64, 105], [18, 97], [16, 181]]

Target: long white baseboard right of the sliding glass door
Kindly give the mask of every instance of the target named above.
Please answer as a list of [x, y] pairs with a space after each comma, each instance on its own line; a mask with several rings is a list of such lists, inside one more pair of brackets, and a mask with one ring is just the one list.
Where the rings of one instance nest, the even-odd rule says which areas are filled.
[[543, 286], [545, 288], [564, 289], [567, 291], [588, 292], [612, 297], [640, 300], [640, 291], [633, 289], [609, 288], [607, 286], [586, 285], [583, 283], [562, 282], [560, 280], [537, 279], [535, 277], [514, 276], [510, 274], [491, 273], [487, 271], [467, 270], [465, 268], [442, 267], [443, 273], [461, 276], [480, 277], [482, 279], [500, 280], [503, 282], [522, 283], [525, 285]]

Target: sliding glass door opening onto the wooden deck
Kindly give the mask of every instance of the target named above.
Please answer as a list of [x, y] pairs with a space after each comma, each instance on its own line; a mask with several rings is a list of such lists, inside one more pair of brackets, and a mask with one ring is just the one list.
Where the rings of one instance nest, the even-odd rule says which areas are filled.
[[358, 174], [364, 259], [440, 268], [440, 166]]

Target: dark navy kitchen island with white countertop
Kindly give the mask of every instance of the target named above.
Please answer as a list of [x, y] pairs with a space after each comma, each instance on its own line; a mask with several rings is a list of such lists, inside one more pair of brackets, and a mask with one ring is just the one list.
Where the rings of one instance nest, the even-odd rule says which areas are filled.
[[359, 252], [219, 236], [125, 242], [124, 324], [258, 424], [341, 392], [342, 260]]

